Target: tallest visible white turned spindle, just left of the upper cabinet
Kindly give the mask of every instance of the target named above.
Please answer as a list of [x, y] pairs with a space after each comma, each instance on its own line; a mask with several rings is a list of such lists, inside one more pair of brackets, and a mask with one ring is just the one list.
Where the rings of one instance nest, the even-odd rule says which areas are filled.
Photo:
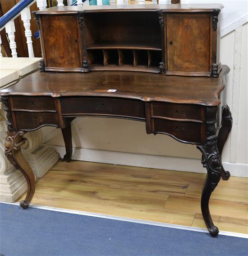
[[32, 45], [32, 32], [30, 30], [30, 9], [29, 7], [26, 7], [21, 11], [21, 19], [23, 21], [23, 25], [25, 28], [25, 36], [27, 38], [27, 45], [28, 45], [28, 56], [29, 58], [34, 57], [33, 54], [33, 45]]

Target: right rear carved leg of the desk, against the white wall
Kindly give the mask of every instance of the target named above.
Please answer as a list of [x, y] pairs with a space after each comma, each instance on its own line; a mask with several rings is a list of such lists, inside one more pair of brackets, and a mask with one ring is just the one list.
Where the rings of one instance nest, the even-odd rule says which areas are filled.
[[[222, 125], [217, 138], [217, 148], [219, 149], [220, 155], [222, 154], [223, 147], [232, 129], [232, 124], [233, 124], [233, 119], [232, 119], [232, 114], [230, 112], [230, 109], [227, 105], [223, 106], [222, 107]], [[230, 177], [230, 172], [225, 171], [224, 168], [222, 167], [220, 171], [220, 175], [222, 179], [226, 181]]]

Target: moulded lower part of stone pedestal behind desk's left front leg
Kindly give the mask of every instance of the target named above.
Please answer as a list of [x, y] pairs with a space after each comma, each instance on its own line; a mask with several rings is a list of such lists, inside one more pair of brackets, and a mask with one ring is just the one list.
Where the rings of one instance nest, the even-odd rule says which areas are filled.
[[[0, 111], [0, 201], [14, 202], [27, 190], [27, 182], [22, 173], [5, 157], [7, 125], [2, 107]], [[23, 145], [23, 155], [35, 176], [40, 178], [59, 160], [59, 154], [55, 149], [41, 144], [41, 130], [28, 132], [25, 137], [28, 140]]]

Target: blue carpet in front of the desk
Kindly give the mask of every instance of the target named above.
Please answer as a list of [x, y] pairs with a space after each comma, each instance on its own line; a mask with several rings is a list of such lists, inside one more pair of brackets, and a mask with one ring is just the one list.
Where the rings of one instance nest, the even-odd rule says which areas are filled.
[[5, 256], [248, 255], [248, 239], [0, 204]]

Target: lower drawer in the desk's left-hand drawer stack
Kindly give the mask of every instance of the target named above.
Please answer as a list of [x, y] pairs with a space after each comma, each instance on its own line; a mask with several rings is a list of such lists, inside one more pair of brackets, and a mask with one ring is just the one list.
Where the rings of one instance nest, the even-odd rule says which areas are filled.
[[57, 126], [56, 113], [15, 112], [18, 130], [33, 130], [40, 126]]

